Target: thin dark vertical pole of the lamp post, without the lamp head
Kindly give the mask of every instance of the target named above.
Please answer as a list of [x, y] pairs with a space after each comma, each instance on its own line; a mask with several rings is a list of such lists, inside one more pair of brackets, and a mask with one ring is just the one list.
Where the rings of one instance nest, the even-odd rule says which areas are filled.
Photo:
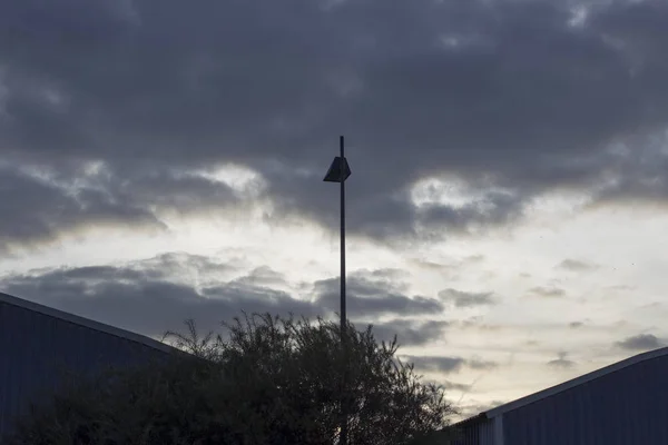
[[347, 445], [347, 433], [348, 433], [348, 415], [347, 415], [347, 352], [346, 352], [346, 333], [347, 333], [347, 318], [345, 307], [345, 152], [344, 152], [344, 140], [343, 136], [338, 138], [338, 146], [341, 148], [341, 346], [343, 350], [343, 390], [342, 390], [342, 404], [341, 404], [341, 441], [340, 445]]

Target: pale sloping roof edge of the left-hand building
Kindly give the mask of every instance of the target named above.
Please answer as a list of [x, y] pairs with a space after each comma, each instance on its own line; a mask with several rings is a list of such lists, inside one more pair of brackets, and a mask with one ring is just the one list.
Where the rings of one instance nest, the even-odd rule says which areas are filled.
[[106, 325], [100, 322], [95, 322], [89, 318], [85, 318], [85, 317], [80, 317], [78, 315], [66, 313], [63, 310], [58, 310], [52, 307], [48, 307], [45, 305], [40, 305], [39, 303], [35, 303], [35, 301], [30, 301], [30, 300], [22, 299], [19, 297], [14, 297], [9, 294], [0, 293], [0, 304], [2, 304], [2, 303], [12, 305], [12, 306], [17, 306], [17, 307], [21, 307], [23, 309], [32, 310], [32, 312], [46, 315], [48, 317], [58, 318], [62, 322], [71, 323], [75, 325], [87, 327], [89, 329], [109, 334], [115, 337], [120, 337], [126, 340], [139, 343], [139, 344], [148, 346], [150, 348], [161, 350], [164, 353], [173, 354], [175, 352], [179, 352], [179, 349], [177, 349], [175, 347], [171, 347], [161, 342], [149, 338], [145, 335], [136, 334], [130, 330], [125, 330], [125, 329], [121, 329], [121, 328], [118, 328], [118, 327], [115, 327], [111, 325]]

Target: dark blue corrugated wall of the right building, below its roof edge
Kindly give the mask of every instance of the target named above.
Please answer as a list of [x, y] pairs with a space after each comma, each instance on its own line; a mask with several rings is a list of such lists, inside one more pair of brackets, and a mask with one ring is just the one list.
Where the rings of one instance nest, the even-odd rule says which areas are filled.
[[503, 414], [504, 445], [668, 444], [668, 356]]

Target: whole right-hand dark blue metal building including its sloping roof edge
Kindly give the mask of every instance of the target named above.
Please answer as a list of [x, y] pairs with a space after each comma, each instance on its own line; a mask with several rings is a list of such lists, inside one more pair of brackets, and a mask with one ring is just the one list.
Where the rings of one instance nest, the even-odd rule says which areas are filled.
[[481, 413], [461, 445], [668, 444], [668, 348]]

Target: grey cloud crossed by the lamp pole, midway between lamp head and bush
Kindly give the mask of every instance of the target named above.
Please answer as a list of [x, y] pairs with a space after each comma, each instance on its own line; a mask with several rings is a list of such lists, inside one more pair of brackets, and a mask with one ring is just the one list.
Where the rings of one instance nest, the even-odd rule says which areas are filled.
[[[351, 274], [346, 283], [348, 314], [357, 317], [383, 314], [433, 315], [443, 310], [440, 301], [421, 296], [409, 297], [403, 293], [404, 290], [403, 283], [387, 279], [384, 276], [379, 278], [369, 271]], [[315, 283], [317, 304], [332, 312], [338, 310], [340, 291], [338, 278]]]

